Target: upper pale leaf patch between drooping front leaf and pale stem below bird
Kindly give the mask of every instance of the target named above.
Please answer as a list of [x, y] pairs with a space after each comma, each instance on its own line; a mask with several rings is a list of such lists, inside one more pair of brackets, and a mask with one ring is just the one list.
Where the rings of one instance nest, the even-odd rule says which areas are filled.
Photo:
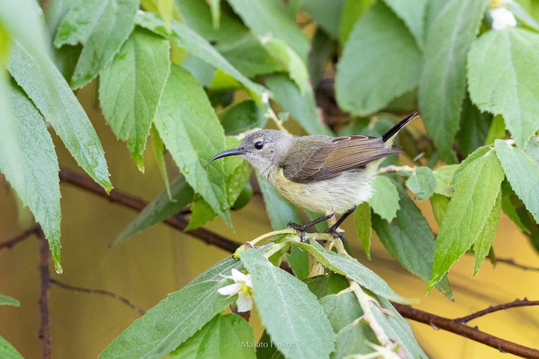
[[363, 315], [354, 293], [329, 294], [319, 301], [335, 333]]

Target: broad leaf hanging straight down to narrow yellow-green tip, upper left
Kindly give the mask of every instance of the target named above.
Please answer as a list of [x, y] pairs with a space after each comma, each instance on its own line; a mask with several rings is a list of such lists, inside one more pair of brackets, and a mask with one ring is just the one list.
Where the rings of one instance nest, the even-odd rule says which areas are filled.
[[99, 102], [116, 137], [127, 141], [137, 166], [170, 73], [170, 43], [137, 27], [99, 75]]

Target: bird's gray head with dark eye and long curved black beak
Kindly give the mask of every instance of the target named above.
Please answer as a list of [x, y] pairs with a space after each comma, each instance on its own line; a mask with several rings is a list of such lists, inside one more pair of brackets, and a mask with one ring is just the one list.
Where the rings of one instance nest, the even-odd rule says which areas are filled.
[[227, 156], [238, 155], [267, 177], [268, 173], [279, 164], [293, 139], [277, 130], [258, 130], [249, 133], [235, 149], [216, 154], [210, 162]]

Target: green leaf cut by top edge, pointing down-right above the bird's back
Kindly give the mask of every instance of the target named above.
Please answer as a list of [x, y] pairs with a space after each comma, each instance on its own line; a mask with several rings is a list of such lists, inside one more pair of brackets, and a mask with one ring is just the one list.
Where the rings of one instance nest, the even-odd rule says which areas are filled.
[[285, 41], [301, 59], [307, 58], [309, 41], [289, 17], [282, 4], [273, 0], [228, 0], [243, 22], [259, 37]]

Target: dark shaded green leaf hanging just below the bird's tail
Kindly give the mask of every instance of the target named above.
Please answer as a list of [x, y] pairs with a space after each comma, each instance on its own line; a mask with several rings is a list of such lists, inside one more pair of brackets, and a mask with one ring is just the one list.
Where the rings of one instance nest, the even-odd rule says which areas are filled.
[[[401, 186], [397, 186], [400, 198], [400, 209], [397, 212], [396, 224], [388, 223], [381, 217], [372, 217], [372, 228], [388, 252], [412, 274], [429, 281], [434, 255], [434, 234], [421, 214], [421, 210], [413, 203]], [[444, 276], [437, 284], [444, 295], [453, 300], [453, 293]]]

